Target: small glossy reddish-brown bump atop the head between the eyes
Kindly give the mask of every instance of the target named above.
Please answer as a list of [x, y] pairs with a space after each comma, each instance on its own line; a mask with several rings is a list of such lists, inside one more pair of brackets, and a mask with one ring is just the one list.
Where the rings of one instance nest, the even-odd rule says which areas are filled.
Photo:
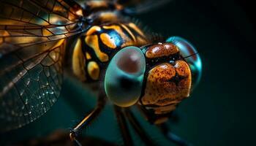
[[157, 58], [178, 53], [178, 47], [172, 43], [157, 44], [148, 47], [146, 52], [147, 58]]

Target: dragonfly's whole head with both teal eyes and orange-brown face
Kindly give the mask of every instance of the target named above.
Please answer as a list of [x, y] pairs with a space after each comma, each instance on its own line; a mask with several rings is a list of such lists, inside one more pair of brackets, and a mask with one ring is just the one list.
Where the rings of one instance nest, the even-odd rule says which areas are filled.
[[110, 101], [129, 107], [140, 99], [146, 110], [162, 115], [189, 96], [192, 76], [200, 69], [184, 55], [195, 54], [195, 47], [185, 39], [168, 40], [141, 48], [125, 47], [114, 55], [105, 74], [105, 92]]

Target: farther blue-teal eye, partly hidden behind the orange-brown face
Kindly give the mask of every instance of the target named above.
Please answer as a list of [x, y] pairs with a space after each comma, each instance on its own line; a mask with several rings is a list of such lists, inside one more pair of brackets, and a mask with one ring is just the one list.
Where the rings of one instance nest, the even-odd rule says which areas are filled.
[[182, 57], [185, 58], [192, 72], [192, 89], [200, 82], [202, 76], [202, 61], [195, 47], [186, 39], [181, 37], [170, 37], [166, 42], [176, 45]]

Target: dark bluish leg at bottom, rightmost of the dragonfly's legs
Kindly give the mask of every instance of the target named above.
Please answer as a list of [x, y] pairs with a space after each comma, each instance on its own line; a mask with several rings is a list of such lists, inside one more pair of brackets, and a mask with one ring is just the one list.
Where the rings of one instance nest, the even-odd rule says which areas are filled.
[[170, 128], [168, 128], [166, 123], [162, 123], [159, 125], [160, 130], [165, 135], [167, 139], [169, 139], [171, 142], [175, 143], [179, 146], [192, 146], [189, 144], [189, 142], [186, 142], [184, 139], [181, 139], [181, 137], [178, 137], [176, 134], [173, 134], [170, 131]]

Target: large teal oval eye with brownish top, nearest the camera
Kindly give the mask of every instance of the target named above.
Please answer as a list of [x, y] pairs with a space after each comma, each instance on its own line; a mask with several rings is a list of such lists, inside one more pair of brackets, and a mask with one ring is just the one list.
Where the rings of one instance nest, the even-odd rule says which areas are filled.
[[140, 98], [146, 61], [138, 47], [124, 47], [111, 59], [105, 73], [105, 93], [119, 107], [129, 107]]

